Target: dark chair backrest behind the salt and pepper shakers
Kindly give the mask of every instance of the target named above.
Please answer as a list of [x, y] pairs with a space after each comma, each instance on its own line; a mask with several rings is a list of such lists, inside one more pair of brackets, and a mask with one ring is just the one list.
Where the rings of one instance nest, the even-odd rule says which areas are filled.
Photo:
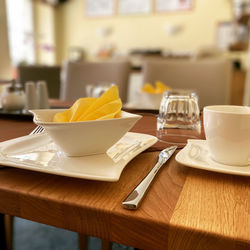
[[49, 98], [58, 99], [60, 95], [60, 72], [59, 66], [18, 66], [17, 80], [23, 85], [27, 81], [44, 80], [47, 82]]

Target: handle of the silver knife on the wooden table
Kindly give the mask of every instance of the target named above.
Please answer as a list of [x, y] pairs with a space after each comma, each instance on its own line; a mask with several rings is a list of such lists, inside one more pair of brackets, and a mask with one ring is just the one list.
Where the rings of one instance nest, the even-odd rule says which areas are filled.
[[127, 196], [127, 198], [122, 202], [122, 205], [126, 209], [136, 210], [144, 196], [146, 195], [150, 184], [152, 183], [154, 177], [160, 170], [163, 162], [157, 162], [151, 171], [143, 178], [143, 180], [135, 187], [135, 189]]

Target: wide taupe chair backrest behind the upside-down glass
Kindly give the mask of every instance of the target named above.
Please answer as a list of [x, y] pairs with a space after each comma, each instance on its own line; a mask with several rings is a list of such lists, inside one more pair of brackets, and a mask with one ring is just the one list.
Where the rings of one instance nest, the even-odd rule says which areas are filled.
[[162, 81], [173, 89], [192, 89], [199, 106], [229, 104], [232, 65], [222, 58], [154, 60], [143, 64], [143, 82]]

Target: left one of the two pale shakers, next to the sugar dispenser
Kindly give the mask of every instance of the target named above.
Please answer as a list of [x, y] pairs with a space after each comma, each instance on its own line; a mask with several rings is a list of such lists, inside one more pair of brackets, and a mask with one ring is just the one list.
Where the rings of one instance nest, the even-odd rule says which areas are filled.
[[26, 105], [25, 109], [37, 109], [38, 108], [38, 98], [36, 92], [35, 83], [32, 81], [25, 83], [25, 94], [26, 94]]

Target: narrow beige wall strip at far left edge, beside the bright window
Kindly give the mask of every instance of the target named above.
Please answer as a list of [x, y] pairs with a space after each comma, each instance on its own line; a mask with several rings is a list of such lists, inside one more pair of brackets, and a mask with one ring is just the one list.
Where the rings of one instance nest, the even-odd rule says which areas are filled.
[[11, 78], [5, 0], [0, 0], [0, 78]]

